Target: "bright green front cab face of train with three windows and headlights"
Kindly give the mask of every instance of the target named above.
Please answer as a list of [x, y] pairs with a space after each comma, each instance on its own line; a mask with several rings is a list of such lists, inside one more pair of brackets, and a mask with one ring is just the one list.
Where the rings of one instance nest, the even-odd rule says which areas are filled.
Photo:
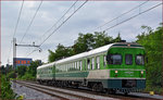
[[113, 91], [139, 91], [146, 88], [145, 50], [142, 47], [113, 47], [106, 57], [110, 78], [104, 87]]

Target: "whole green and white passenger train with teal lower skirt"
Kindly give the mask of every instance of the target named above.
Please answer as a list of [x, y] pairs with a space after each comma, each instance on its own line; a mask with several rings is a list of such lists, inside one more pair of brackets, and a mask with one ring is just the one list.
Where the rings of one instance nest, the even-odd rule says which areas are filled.
[[38, 66], [37, 80], [111, 93], [141, 90], [146, 88], [145, 49], [133, 42], [106, 45]]

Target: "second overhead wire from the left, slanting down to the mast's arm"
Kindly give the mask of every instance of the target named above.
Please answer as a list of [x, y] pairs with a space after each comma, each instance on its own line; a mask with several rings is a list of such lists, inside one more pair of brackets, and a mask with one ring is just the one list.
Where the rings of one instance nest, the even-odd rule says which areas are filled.
[[22, 37], [20, 43], [22, 43], [24, 37], [26, 36], [26, 34], [27, 34], [28, 30], [30, 29], [30, 26], [32, 26], [32, 24], [33, 24], [33, 22], [34, 22], [34, 20], [35, 20], [35, 17], [36, 17], [36, 15], [37, 15], [37, 13], [38, 13], [38, 11], [39, 11], [41, 4], [42, 4], [42, 1], [43, 1], [43, 0], [40, 1], [40, 3], [39, 3], [39, 5], [38, 5], [38, 8], [37, 8], [37, 10], [36, 10], [36, 12], [35, 12], [35, 14], [34, 14], [34, 16], [33, 16], [33, 18], [32, 18], [32, 21], [30, 21], [28, 27], [26, 28], [26, 30], [25, 30], [25, 33], [24, 33], [24, 35], [23, 35], [23, 37]]

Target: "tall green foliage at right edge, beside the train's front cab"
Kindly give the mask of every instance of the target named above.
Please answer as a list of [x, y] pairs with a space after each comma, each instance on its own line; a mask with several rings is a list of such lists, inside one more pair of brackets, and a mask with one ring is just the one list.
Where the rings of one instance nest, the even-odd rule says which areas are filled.
[[148, 63], [147, 70], [147, 86], [161, 88], [162, 80], [162, 46], [163, 46], [163, 28], [160, 26], [153, 30], [149, 26], [142, 26], [143, 33], [137, 36], [137, 42], [142, 45], [146, 50]]

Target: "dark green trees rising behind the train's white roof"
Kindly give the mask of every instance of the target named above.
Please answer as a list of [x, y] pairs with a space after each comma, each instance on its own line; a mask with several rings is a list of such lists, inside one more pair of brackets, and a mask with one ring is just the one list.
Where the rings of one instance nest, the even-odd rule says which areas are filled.
[[85, 35], [79, 33], [78, 38], [75, 40], [75, 43], [72, 47], [64, 47], [63, 45], [59, 43], [54, 52], [49, 50], [48, 61], [53, 62], [112, 43], [114, 41], [121, 41], [120, 34], [115, 39], [113, 39], [112, 37], [108, 36], [105, 32], [95, 32], [95, 34], [87, 33]]

